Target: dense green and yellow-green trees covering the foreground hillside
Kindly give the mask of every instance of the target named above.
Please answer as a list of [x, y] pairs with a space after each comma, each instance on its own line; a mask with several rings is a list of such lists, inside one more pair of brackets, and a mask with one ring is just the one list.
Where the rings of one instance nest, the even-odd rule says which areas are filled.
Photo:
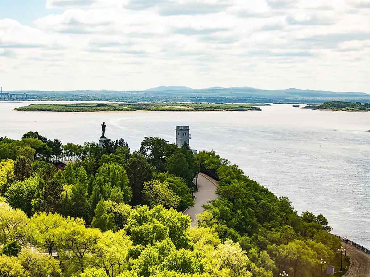
[[[55, 163], [73, 160], [64, 171]], [[0, 276], [320, 276], [340, 240], [214, 151], [146, 137], [62, 145], [37, 132], [0, 138]], [[198, 226], [182, 211], [202, 171], [218, 198]]]

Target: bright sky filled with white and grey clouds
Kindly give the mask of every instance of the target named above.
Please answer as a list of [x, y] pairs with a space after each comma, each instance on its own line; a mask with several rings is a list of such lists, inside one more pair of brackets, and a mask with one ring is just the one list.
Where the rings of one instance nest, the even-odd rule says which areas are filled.
[[0, 0], [3, 90], [370, 93], [370, 0]]

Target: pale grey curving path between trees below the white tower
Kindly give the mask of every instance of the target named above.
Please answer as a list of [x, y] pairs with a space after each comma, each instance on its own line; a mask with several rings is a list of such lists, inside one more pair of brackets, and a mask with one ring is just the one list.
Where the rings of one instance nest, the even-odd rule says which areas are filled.
[[196, 215], [204, 211], [203, 205], [217, 198], [216, 188], [217, 182], [214, 179], [203, 173], [198, 174], [198, 192], [195, 193], [195, 204], [184, 212], [185, 215], [190, 216], [191, 226], [196, 226]]

